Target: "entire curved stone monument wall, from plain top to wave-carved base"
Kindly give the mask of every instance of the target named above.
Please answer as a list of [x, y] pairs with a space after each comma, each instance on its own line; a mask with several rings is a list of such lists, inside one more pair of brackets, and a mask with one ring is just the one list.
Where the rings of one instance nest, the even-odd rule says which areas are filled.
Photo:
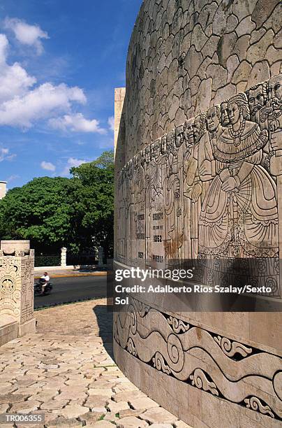
[[[280, 301], [281, 23], [278, 0], [144, 1], [116, 152], [118, 266], [263, 257], [251, 281]], [[281, 313], [144, 296], [114, 315], [133, 383], [192, 427], [281, 425]]]

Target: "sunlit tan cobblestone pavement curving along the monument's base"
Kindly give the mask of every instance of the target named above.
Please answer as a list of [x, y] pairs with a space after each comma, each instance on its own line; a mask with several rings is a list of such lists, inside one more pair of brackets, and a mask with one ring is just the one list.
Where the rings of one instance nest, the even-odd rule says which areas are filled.
[[0, 414], [45, 413], [45, 425], [3, 427], [188, 427], [114, 364], [105, 304], [99, 299], [37, 312], [37, 334], [0, 348]]

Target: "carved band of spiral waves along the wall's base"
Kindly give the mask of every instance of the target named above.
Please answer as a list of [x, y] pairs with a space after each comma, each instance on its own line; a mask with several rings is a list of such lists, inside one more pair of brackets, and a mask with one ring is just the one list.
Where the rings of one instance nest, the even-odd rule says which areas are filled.
[[126, 352], [214, 397], [282, 420], [281, 357], [192, 324], [177, 334], [168, 315], [147, 306], [142, 317], [131, 301], [131, 313], [114, 315], [114, 341]]

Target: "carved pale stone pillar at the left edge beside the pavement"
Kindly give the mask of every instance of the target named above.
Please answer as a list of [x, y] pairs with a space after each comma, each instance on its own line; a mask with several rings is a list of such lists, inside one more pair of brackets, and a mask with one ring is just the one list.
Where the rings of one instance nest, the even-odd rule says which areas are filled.
[[29, 241], [1, 241], [0, 345], [35, 331], [34, 250]]

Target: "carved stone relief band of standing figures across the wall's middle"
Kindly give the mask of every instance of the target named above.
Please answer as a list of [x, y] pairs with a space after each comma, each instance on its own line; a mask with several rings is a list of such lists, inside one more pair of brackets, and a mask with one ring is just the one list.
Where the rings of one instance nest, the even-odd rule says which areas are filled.
[[271, 265], [272, 296], [281, 297], [273, 263], [281, 130], [279, 74], [141, 150], [119, 173], [117, 261], [160, 268], [180, 259], [260, 257]]

